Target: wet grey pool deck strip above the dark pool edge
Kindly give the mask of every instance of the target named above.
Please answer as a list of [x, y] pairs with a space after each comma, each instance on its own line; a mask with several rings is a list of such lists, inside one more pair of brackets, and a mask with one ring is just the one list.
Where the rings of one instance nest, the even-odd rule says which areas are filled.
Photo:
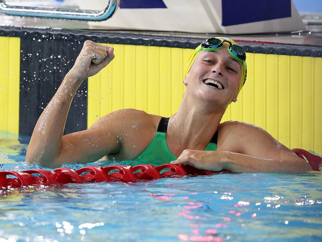
[[265, 34], [246, 34], [246, 35], [224, 35], [217, 33], [185, 33], [185, 32], [159, 32], [159, 31], [139, 31], [139, 30], [117, 30], [117, 29], [89, 29], [89, 25], [85, 21], [44, 19], [44, 18], [29, 18], [15, 17], [0, 13], [0, 28], [1, 26], [11, 27], [31, 27], [39, 29], [73, 29], [86, 30], [96, 32], [110, 32], [112, 34], [140, 34], [150, 36], [165, 36], [166, 37], [182, 37], [182, 38], [208, 38], [211, 36], [225, 36], [234, 40], [257, 41], [257, 42], [274, 42], [283, 44], [296, 45], [314, 45], [322, 46], [322, 15], [302, 16], [306, 30], [299, 30], [286, 33], [265, 33]]

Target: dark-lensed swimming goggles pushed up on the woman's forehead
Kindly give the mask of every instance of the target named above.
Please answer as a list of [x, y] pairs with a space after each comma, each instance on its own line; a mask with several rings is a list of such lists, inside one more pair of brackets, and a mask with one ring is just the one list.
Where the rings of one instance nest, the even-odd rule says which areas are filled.
[[227, 42], [229, 44], [227, 46], [227, 51], [233, 59], [239, 62], [244, 62], [246, 60], [246, 53], [243, 48], [238, 45], [232, 44], [229, 40], [209, 38], [201, 44], [201, 48], [204, 51], [217, 51], [223, 47], [224, 42]]

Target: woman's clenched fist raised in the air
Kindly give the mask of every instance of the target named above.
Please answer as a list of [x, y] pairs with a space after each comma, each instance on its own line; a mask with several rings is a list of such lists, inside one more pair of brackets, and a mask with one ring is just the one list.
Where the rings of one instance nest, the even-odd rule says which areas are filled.
[[107, 66], [114, 59], [113, 51], [112, 47], [86, 40], [69, 74], [82, 82]]

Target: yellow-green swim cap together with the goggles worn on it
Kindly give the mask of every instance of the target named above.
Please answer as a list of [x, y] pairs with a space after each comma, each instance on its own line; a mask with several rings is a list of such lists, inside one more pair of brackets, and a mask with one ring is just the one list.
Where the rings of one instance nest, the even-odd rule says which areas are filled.
[[192, 64], [195, 62], [199, 52], [202, 50], [204, 51], [216, 51], [223, 47], [223, 45], [227, 45], [227, 51], [228, 53], [237, 61], [241, 62], [243, 64], [242, 67], [242, 75], [241, 75], [241, 81], [239, 85], [238, 92], [242, 89], [246, 82], [247, 78], [247, 65], [246, 65], [246, 54], [244, 50], [238, 46], [238, 44], [225, 37], [215, 37], [215, 38], [209, 38], [205, 40], [202, 44], [200, 44], [193, 53], [191, 53], [188, 61], [187, 61], [187, 69], [184, 75], [184, 78], [187, 76], [188, 72], [191, 69]]

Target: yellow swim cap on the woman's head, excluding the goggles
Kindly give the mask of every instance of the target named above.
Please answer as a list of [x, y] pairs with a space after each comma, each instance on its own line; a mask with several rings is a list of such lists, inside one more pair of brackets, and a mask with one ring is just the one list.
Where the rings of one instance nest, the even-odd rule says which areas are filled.
[[[235, 41], [229, 39], [229, 38], [225, 38], [225, 37], [215, 37], [219, 40], [225, 40], [230, 42], [232, 45], [238, 45]], [[228, 45], [226, 42], [223, 42], [224, 45]], [[192, 64], [195, 62], [199, 52], [201, 52], [203, 50], [203, 48], [201, 47], [201, 44], [193, 51], [193, 53], [191, 53], [190, 57], [187, 60], [187, 69], [186, 72], [184, 74], [184, 78], [187, 76], [188, 72], [191, 69]], [[241, 75], [241, 80], [240, 80], [240, 85], [238, 88], [238, 92], [240, 92], [240, 90], [242, 89], [242, 87], [244, 86], [245, 82], [246, 82], [246, 78], [247, 78], [247, 65], [246, 65], [246, 60], [242, 62], [242, 75]]]

